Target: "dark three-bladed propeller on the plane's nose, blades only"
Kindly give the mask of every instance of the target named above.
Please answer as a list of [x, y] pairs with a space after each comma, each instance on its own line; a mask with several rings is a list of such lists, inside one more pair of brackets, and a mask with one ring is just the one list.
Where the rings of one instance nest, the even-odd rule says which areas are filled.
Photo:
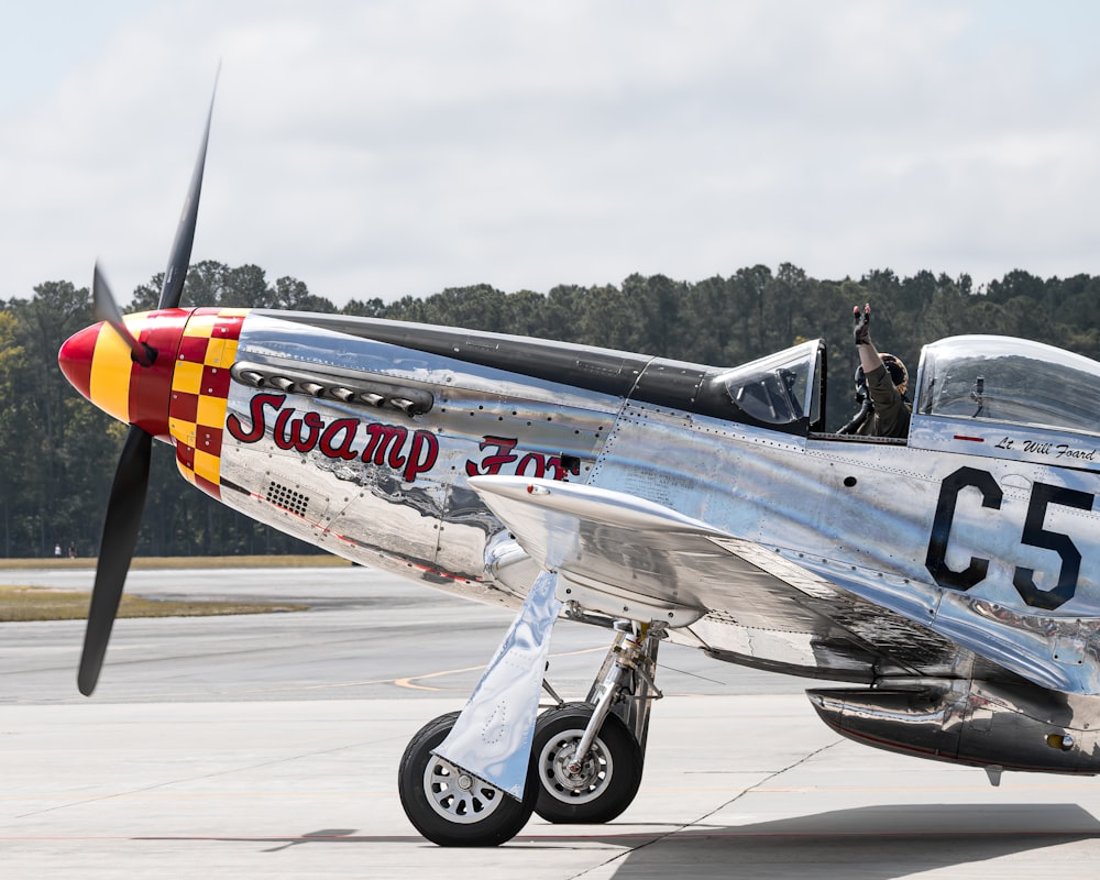
[[[215, 79], [217, 94], [217, 78]], [[213, 117], [213, 97], [210, 98], [210, 109], [207, 111], [206, 129], [199, 147], [198, 160], [187, 189], [187, 199], [176, 228], [176, 237], [168, 255], [168, 267], [164, 273], [164, 285], [161, 288], [158, 309], [172, 309], [179, 306], [184, 293], [184, 279], [191, 258], [191, 245], [195, 243], [195, 226], [198, 220], [199, 196], [202, 190], [202, 169], [206, 165], [207, 144], [210, 140], [210, 120]], [[129, 345], [131, 358], [142, 366], [150, 366], [156, 360], [156, 351], [147, 343], [139, 341], [122, 320], [111, 288], [107, 284], [99, 264], [96, 264], [92, 284], [92, 310], [97, 319], [110, 326]], [[103, 519], [103, 535], [99, 542], [99, 561], [96, 566], [96, 581], [91, 591], [91, 605], [88, 609], [88, 627], [84, 636], [84, 651], [80, 654], [80, 669], [77, 673], [77, 685], [80, 693], [90, 696], [99, 681], [99, 672], [107, 654], [107, 644], [111, 638], [111, 629], [122, 601], [122, 588], [134, 548], [138, 544], [138, 534], [141, 530], [142, 513], [145, 509], [145, 494], [148, 488], [150, 459], [153, 452], [153, 436], [148, 431], [130, 426], [127, 441], [119, 458], [119, 465], [111, 484], [111, 495], [107, 503], [107, 516]]]

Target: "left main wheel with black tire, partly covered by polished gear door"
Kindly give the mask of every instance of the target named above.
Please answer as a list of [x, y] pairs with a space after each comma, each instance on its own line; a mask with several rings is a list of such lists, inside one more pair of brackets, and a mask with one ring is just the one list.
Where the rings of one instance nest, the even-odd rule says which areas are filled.
[[[397, 773], [397, 790], [409, 822], [439, 846], [499, 846], [531, 817], [537, 787], [528, 779], [522, 802], [462, 773], [431, 750], [454, 726], [458, 712], [440, 715], [409, 740]], [[462, 790], [459, 779], [470, 788]]]

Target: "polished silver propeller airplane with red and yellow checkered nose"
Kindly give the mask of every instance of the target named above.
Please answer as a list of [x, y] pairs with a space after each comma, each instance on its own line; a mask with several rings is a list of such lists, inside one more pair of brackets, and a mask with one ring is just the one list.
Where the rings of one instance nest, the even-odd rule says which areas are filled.
[[[1005, 771], [1100, 771], [1100, 363], [1037, 342], [926, 345], [900, 439], [826, 430], [824, 341], [725, 366], [541, 339], [182, 308], [210, 119], [157, 308], [58, 361], [129, 425], [78, 682], [96, 686], [154, 439], [258, 521], [515, 619], [398, 789], [441, 846], [532, 813], [606, 823], [642, 776], [662, 641], [831, 683], [867, 746]], [[586, 697], [544, 681], [559, 619], [606, 630]], [[546, 691], [553, 705], [540, 711]], [[705, 736], [705, 732], [701, 732]]]

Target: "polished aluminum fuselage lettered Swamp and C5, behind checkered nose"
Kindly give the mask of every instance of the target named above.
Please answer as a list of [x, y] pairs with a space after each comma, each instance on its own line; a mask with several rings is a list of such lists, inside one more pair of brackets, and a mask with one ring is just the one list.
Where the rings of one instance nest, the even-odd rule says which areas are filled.
[[[605, 548], [634, 572], [641, 600], [700, 610], [670, 628], [673, 640], [893, 689], [902, 696], [815, 698], [827, 722], [870, 745], [1094, 772], [1096, 438], [1001, 427], [977, 437], [970, 422], [920, 413], [908, 443], [776, 430], [706, 400], [718, 373], [512, 337], [252, 312], [229, 393], [221, 499], [356, 562], [515, 606], [539, 566], [470, 477], [568, 480], [641, 498], [829, 585], [740, 584], [703, 563], [669, 570], [630, 541]], [[377, 407], [362, 403], [372, 393]], [[1014, 726], [987, 723], [993, 715]], [[1001, 747], [1021, 739], [1021, 724], [1032, 745], [1016, 759]], [[1069, 730], [1070, 746], [1046, 741]]]

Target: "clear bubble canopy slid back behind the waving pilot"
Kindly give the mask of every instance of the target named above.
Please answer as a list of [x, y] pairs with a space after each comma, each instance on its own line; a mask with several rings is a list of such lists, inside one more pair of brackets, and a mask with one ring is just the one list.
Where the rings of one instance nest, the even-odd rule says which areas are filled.
[[924, 349], [916, 410], [1096, 433], [1100, 363], [1012, 337], [943, 339]]

